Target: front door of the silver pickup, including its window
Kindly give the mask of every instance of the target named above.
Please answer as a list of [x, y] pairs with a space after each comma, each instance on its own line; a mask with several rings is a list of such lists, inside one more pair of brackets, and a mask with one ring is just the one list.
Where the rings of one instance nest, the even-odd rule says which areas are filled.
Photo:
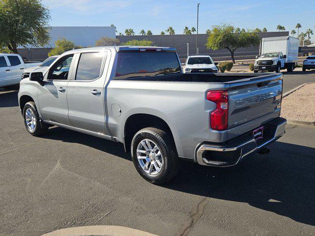
[[38, 89], [38, 102], [43, 120], [72, 126], [68, 118], [67, 88], [73, 66], [73, 54], [55, 62], [45, 73]]

